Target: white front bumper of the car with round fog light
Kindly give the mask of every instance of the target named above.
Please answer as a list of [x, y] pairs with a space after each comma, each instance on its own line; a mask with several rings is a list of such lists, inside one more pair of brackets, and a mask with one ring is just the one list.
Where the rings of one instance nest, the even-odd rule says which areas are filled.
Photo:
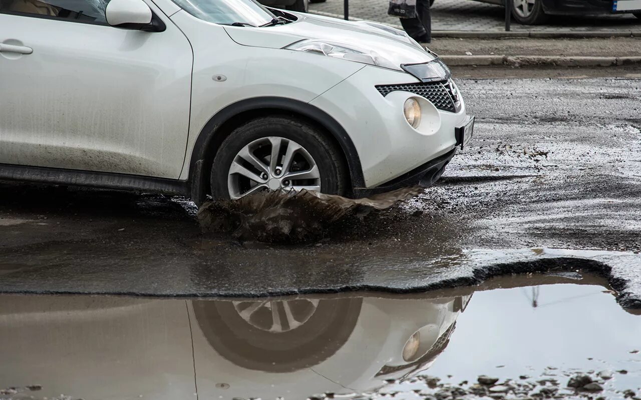
[[[454, 111], [437, 109], [426, 97], [403, 90], [412, 83], [420, 81], [406, 72], [367, 66], [310, 102], [333, 116], [354, 143], [365, 183], [353, 188], [354, 196], [421, 180], [433, 183], [453, 156], [455, 129], [467, 121], [463, 100]], [[384, 94], [377, 86], [401, 88]], [[417, 129], [403, 115], [403, 104], [410, 97], [422, 109]], [[440, 163], [443, 159], [447, 161]], [[432, 168], [433, 161], [440, 168]]]

